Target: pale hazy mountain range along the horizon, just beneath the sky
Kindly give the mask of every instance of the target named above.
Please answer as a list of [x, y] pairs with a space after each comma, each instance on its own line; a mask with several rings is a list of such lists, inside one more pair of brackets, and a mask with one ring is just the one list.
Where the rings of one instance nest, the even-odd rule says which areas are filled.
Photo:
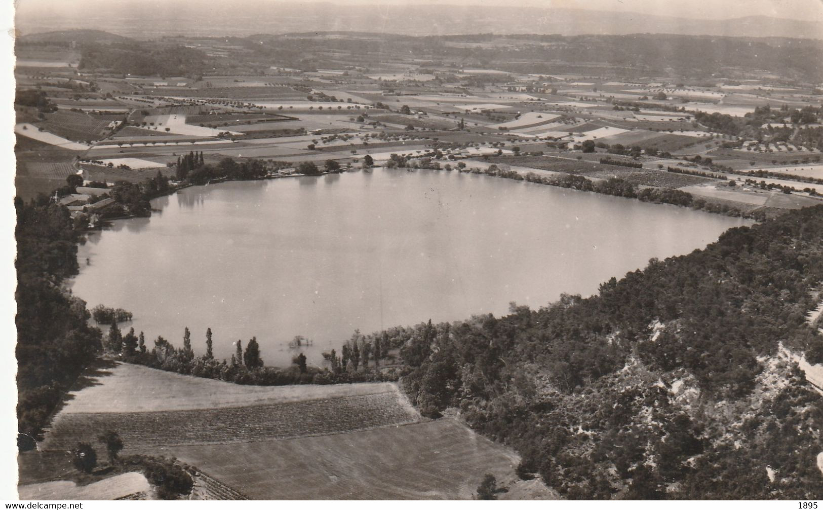
[[107, 30], [136, 39], [156, 39], [163, 35], [248, 36], [255, 33], [346, 30], [405, 35], [657, 33], [823, 40], [821, 22], [769, 16], [707, 21], [641, 12], [487, 5], [376, 7], [251, 0], [244, 2], [242, 8], [233, 2], [216, 0], [202, 0], [198, 5], [202, 8], [194, 11], [185, 8], [185, 2], [124, 0], [86, 2], [80, 6], [72, 4], [72, 8], [65, 11], [35, 13], [27, 11], [24, 4], [18, 9], [16, 22], [24, 33], [105, 26]]

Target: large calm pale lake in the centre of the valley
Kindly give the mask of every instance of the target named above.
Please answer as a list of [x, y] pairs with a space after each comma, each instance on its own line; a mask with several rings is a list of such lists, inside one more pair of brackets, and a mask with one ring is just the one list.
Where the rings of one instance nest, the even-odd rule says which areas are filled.
[[[682, 255], [743, 220], [458, 172], [374, 169], [197, 186], [81, 246], [73, 292], [122, 307], [217, 358], [258, 338], [267, 365], [309, 363], [355, 329], [504, 314], [597, 292], [651, 257]], [[86, 265], [86, 258], [90, 264]], [[128, 330], [129, 325], [123, 325]], [[124, 331], [125, 332], [125, 331]]]

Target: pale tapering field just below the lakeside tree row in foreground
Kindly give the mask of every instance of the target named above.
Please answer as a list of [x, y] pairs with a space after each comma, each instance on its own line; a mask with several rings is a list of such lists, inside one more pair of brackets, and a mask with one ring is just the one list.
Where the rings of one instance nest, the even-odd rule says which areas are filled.
[[155, 368], [119, 363], [99, 385], [70, 391], [60, 414], [216, 409], [398, 391], [390, 382], [337, 385], [242, 386]]

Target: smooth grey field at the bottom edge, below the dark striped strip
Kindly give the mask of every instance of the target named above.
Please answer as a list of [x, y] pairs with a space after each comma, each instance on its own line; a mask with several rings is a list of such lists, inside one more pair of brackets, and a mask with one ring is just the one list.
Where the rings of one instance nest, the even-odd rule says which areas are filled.
[[519, 458], [455, 419], [283, 441], [168, 447], [252, 499], [468, 499]]

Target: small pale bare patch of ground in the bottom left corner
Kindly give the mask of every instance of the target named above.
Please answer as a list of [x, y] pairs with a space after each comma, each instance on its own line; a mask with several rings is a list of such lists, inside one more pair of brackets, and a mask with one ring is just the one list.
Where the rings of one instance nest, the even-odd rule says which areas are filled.
[[93, 484], [77, 485], [69, 480], [21, 485], [17, 492], [22, 500], [114, 500], [137, 493], [151, 492], [142, 473], [123, 473]]

